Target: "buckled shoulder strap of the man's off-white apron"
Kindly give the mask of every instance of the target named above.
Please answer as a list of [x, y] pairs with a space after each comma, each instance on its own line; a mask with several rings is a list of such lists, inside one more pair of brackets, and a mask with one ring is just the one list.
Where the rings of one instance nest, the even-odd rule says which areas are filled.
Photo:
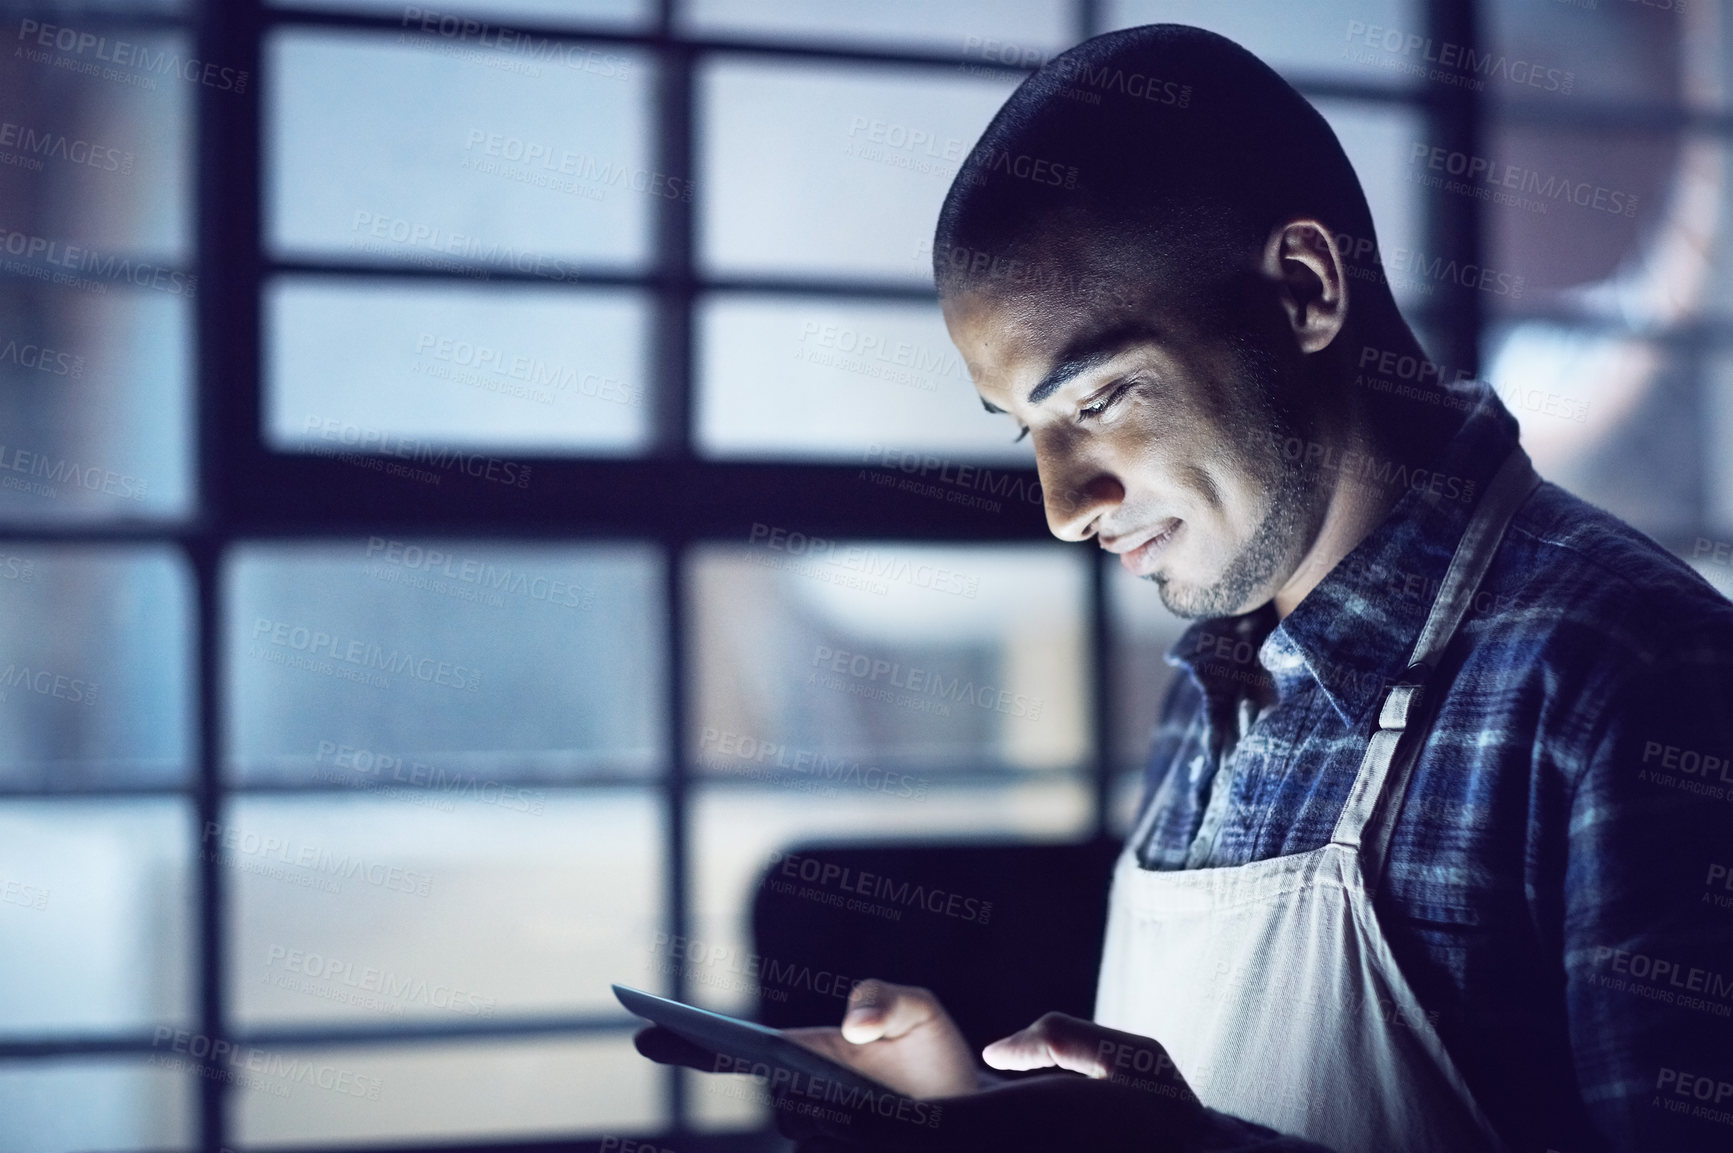
[[[1378, 889], [1383, 876], [1395, 815], [1402, 808], [1414, 756], [1431, 720], [1431, 709], [1426, 707], [1431, 704], [1426, 700], [1431, 673], [1468, 614], [1480, 581], [1499, 550], [1499, 541], [1504, 539], [1504, 529], [1539, 484], [1541, 477], [1535, 475], [1529, 454], [1522, 447], [1511, 449], [1482, 492], [1480, 505], [1456, 544], [1444, 584], [1431, 602], [1419, 640], [1414, 642], [1407, 671], [1385, 692], [1379, 704], [1378, 730], [1366, 746], [1360, 772], [1329, 837], [1333, 844], [1360, 851], [1360, 876], [1366, 877], [1367, 893]], [[1405, 733], [1412, 737], [1404, 740]]]

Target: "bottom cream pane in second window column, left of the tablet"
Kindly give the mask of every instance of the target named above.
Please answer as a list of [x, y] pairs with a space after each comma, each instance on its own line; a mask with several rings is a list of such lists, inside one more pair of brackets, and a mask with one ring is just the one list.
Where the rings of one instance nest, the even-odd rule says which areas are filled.
[[[345, 1046], [284, 1051], [345, 1089], [241, 1092], [236, 1143], [248, 1150], [357, 1148], [633, 1136], [664, 1127], [662, 1070], [629, 1035], [581, 1040]], [[347, 1073], [348, 1080], [340, 1082]], [[355, 1092], [360, 1087], [366, 1092]], [[378, 1091], [376, 1098], [367, 1092]], [[619, 1148], [619, 1143], [612, 1148]], [[627, 1146], [631, 1148], [631, 1146]], [[657, 1148], [657, 1143], [650, 1143]]]

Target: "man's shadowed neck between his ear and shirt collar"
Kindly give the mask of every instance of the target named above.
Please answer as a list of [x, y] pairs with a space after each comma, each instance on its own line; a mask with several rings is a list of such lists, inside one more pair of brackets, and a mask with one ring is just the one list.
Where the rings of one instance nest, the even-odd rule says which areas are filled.
[[[1397, 317], [1393, 324], [1379, 326], [1362, 338], [1343, 340], [1340, 345], [1324, 354], [1331, 359], [1319, 366], [1321, 394], [1336, 401], [1319, 413], [1310, 432], [1310, 439], [1322, 447], [1324, 459], [1341, 461], [1348, 454], [1357, 454], [1371, 458], [1378, 472], [1385, 472], [1385, 461], [1409, 468], [1431, 465], [1456, 432], [1456, 421], [1442, 416], [1449, 409], [1392, 397], [1355, 383], [1359, 371], [1353, 361], [1362, 347], [1390, 349], [1399, 357], [1412, 355], [1426, 361], [1414, 333]], [[1312, 532], [1312, 541], [1293, 574], [1275, 591], [1275, 616], [1286, 617], [1300, 607], [1307, 593], [1390, 515], [1404, 491], [1393, 484], [1362, 479], [1345, 468], [1322, 468], [1317, 531]]]

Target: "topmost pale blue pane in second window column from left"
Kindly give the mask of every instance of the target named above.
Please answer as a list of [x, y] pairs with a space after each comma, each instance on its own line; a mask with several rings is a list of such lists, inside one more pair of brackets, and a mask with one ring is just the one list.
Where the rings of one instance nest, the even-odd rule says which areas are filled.
[[281, 253], [570, 276], [646, 251], [641, 55], [331, 31], [267, 42], [267, 236]]

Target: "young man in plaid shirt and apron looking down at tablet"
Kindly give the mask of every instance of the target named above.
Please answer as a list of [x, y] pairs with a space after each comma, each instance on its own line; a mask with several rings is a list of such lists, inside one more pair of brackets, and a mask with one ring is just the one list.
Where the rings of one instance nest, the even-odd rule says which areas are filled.
[[804, 1040], [943, 1124], [809, 1148], [1733, 1148], [1733, 605], [1534, 477], [1369, 238], [1315, 109], [1192, 28], [1073, 49], [976, 146], [951, 336], [1054, 534], [1198, 622], [1097, 1019], [984, 1054], [1085, 1077], [993, 1082], [868, 981]]

